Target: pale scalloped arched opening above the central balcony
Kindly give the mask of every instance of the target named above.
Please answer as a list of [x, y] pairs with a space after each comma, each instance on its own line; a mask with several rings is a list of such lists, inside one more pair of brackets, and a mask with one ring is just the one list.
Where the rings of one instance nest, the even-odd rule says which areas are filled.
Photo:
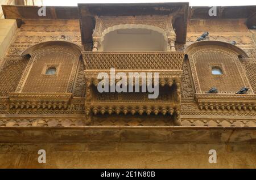
[[167, 37], [162, 29], [149, 25], [122, 25], [103, 33], [100, 51], [149, 52], [166, 51]]

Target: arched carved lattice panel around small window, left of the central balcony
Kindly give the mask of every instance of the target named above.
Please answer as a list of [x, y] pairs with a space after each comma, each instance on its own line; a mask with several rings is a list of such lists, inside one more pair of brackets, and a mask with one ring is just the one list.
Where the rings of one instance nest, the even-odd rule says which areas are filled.
[[[71, 92], [79, 54], [62, 46], [49, 46], [32, 54], [16, 92]], [[42, 75], [43, 67], [56, 64], [56, 75]]]

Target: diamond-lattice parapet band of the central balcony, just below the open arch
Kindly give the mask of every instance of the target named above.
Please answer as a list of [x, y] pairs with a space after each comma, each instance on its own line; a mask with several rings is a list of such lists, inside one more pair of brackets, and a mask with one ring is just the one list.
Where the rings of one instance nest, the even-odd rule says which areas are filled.
[[184, 54], [181, 52], [84, 52], [86, 69], [110, 68], [125, 70], [181, 70]]

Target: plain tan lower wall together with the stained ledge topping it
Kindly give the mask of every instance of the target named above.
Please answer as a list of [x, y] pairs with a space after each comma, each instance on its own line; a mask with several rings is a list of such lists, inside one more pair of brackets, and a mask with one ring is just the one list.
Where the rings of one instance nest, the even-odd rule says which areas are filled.
[[[256, 168], [249, 127], [0, 129], [0, 168]], [[40, 149], [46, 164], [38, 163]], [[209, 164], [210, 149], [217, 164]]]

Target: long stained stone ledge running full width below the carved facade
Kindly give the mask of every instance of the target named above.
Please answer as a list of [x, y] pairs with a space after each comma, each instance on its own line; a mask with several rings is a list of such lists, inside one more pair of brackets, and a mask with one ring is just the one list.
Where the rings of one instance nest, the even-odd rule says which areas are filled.
[[256, 143], [255, 127], [0, 127], [0, 143]]

